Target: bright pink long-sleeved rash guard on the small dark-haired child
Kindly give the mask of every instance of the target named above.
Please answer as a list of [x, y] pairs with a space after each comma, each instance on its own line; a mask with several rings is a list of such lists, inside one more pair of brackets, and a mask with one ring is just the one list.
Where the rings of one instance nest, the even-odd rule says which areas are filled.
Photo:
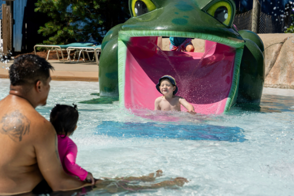
[[88, 172], [82, 169], [75, 163], [77, 147], [68, 136], [57, 135], [58, 137], [58, 152], [63, 170], [70, 175], [79, 177], [80, 180], [85, 180]]

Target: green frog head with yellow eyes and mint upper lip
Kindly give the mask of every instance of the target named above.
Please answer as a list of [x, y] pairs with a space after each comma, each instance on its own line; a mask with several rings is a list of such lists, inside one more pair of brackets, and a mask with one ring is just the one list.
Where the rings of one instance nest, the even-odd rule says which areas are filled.
[[[240, 48], [244, 40], [232, 27], [233, 0], [129, 0], [132, 18], [120, 38], [133, 36], [189, 37]], [[125, 37], [124, 37], [125, 36]]]

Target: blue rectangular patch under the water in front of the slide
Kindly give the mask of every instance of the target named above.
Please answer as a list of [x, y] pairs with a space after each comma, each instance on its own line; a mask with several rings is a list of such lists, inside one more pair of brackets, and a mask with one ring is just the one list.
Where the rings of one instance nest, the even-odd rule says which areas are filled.
[[120, 123], [104, 121], [98, 125], [97, 134], [118, 138], [157, 138], [182, 140], [212, 140], [244, 142], [243, 129], [216, 125], [187, 125], [159, 123]]

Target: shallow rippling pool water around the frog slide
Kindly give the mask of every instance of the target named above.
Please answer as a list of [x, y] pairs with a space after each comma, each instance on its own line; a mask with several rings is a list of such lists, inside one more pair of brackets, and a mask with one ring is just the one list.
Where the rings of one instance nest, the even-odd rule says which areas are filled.
[[[0, 99], [8, 90], [9, 80], [0, 79]], [[157, 181], [189, 180], [178, 189], [118, 195], [293, 195], [294, 90], [265, 88], [260, 106], [237, 105], [219, 116], [128, 111], [115, 98], [99, 101], [97, 93], [97, 82], [52, 81], [48, 104], [37, 108], [49, 119], [56, 103], [78, 105], [72, 138], [80, 166], [97, 178], [161, 169]], [[90, 99], [97, 104], [78, 103]]]

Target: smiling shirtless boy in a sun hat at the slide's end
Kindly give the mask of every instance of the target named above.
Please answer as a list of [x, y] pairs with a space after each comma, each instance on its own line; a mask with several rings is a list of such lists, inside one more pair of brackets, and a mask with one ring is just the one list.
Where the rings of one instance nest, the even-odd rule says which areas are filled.
[[178, 88], [176, 86], [175, 79], [172, 76], [162, 76], [156, 85], [156, 89], [159, 93], [163, 94], [163, 96], [155, 99], [154, 110], [181, 111], [181, 105], [183, 105], [188, 110], [187, 112], [190, 114], [196, 114], [193, 105], [186, 101], [186, 99], [175, 96]]

